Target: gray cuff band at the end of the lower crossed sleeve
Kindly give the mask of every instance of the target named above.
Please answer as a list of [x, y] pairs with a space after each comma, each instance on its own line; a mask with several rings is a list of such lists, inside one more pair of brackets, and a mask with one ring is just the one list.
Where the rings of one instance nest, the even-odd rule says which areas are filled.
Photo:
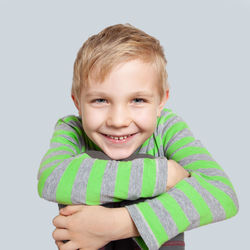
[[143, 238], [149, 250], [158, 249], [160, 247], [158, 241], [152, 233], [144, 216], [141, 214], [141, 211], [136, 207], [136, 205], [130, 205], [125, 207], [128, 209], [129, 214], [132, 220], [134, 221], [140, 236]]

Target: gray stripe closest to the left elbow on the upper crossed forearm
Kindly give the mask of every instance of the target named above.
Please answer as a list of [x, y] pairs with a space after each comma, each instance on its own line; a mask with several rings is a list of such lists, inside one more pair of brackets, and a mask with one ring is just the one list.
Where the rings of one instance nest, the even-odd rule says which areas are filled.
[[56, 188], [57, 185], [69, 163], [72, 159], [64, 160], [59, 166], [57, 166], [50, 176], [47, 178], [43, 188], [42, 197], [46, 200], [56, 202]]

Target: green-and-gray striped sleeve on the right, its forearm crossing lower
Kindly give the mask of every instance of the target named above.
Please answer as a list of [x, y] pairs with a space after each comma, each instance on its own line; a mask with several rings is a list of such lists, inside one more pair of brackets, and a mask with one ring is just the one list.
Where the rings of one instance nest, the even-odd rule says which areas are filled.
[[147, 142], [142, 152], [164, 154], [191, 177], [156, 198], [126, 206], [141, 235], [135, 240], [143, 249], [158, 249], [186, 230], [237, 213], [238, 200], [230, 180], [180, 117], [165, 109], [154, 138], [157, 143]]

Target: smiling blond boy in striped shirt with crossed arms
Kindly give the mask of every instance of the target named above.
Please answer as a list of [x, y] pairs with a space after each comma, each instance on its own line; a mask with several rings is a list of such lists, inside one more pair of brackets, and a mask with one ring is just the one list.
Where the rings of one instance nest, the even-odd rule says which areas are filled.
[[[163, 109], [169, 92], [165, 66], [159, 42], [130, 25], [104, 29], [78, 52], [72, 98], [80, 117], [58, 121], [39, 169], [39, 195], [61, 204], [87, 205], [148, 199], [121, 209], [85, 206], [84, 220], [91, 219], [89, 211], [93, 217], [99, 214], [94, 211], [122, 211], [135, 224], [120, 236], [103, 229], [103, 241], [96, 237], [90, 245], [80, 242], [79, 233], [72, 236], [77, 235], [74, 227], [83, 230], [88, 225], [73, 220], [66, 207], [54, 219], [53, 236], [60, 249], [98, 249], [111, 238], [128, 237], [143, 249], [158, 249], [186, 230], [237, 213], [237, 197], [221, 167], [186, 123]], [[88, 150], [102, 151], [113, 160], [90, 157]], [[126, 160], [145, 153], [155, 158]], [[93, 235], [94, 224], [107, 216], [99, 217], [90, 220]], [[115, 226], [122, 231], [123, 223]]]

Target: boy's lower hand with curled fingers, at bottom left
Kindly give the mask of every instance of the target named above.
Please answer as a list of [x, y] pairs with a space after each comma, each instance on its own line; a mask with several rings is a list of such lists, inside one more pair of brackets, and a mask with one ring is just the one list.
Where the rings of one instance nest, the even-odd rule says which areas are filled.
[[[60, 250], [94, 250], [113, 239], [115, 216], [103, 206], [72, 205], [53, 219], [53, 238]], [[64, 240], [68, 242], [63, 243]]]

